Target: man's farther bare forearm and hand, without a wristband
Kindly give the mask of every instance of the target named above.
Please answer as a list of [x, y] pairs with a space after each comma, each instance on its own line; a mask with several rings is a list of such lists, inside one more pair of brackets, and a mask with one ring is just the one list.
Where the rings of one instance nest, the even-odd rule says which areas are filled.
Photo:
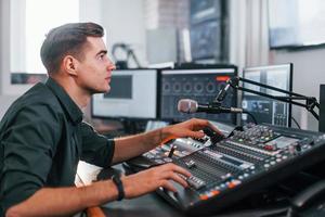
[[171, 139], [183, 137], [202, 138], [205, 136], [202, 131], [205, 127], [210, 127], [219, 132], [208, 120], [192, 118], [187, 122], [170, 125], [150, 132], [116, 138], [113, 163], [123, 162], [143, 154]]

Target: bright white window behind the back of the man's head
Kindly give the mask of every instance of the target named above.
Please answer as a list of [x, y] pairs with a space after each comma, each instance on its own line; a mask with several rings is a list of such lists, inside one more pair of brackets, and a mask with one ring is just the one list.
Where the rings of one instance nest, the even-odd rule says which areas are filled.
[[17, 75], [46, 74], [39, 54], [44, 36], [55, 26], [79, 22], [79, 0], [11, 0], [10, 21], [12, 81]]

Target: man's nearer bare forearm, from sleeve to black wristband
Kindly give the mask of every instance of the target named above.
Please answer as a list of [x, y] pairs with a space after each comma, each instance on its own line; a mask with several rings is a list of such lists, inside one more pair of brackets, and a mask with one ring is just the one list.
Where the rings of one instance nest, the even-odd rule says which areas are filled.
[[10, 207], [5, 216], [67, 216], [117, 197], [113, 181], [81, 188], [42, 188], [26, 201]]

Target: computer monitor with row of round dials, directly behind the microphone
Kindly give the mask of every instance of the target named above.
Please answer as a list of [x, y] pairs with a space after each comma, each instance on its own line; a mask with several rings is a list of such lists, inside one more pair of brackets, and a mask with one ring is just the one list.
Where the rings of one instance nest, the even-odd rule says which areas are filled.
[[[182, 122], [192, 117], [236, 123], [234, 114], [184, 114], [178, 111], [181, 99], [192, 99], [198, 103], [212, 102], [219, 90], [225, 86], [226, 80], [237, 74], [237, 67], [230, 65], [213, 68], [192, 69], [162, 69], [160, 91], [160, 118], [170, 122]], [[230, 90], [224, 106], [236, 106], [237, 95], [235, 90]]]

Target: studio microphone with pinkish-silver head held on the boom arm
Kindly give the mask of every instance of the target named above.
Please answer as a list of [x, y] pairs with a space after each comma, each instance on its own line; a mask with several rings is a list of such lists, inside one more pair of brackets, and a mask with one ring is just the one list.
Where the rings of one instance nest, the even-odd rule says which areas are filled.
[[209, 113], [209, 114], [220, 114], [220, 113], [243, 113], [243, 108], [239, 107], [224, 107], [220, 103], [208, 103], [200, 104], [195, 100], [181, 99], [178, 103], [178, 111], [182, 113]]

